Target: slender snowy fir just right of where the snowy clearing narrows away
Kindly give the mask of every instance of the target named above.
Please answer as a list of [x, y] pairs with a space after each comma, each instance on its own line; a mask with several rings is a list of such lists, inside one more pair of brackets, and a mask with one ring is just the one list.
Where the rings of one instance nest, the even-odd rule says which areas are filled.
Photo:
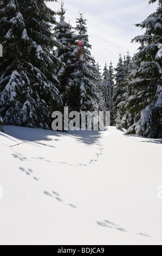
[[119, 107], [119, 103], [121, 101], [121, 96], [125, 92], [124, 88], [124, 79], [126, 75], [126, 69], [124, 61], [119, 54], [119, 62], [115, 68], [115, 85], [114, 85], [114, 96], [113, 96], [113, 125], [116, 125], [117, 129], [121, 128], [121, 118], [122, 113]]

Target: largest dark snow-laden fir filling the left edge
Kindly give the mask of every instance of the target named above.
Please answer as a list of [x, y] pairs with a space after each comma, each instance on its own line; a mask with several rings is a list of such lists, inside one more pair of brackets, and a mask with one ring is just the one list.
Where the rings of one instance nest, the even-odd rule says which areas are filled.
[[61, 61], [51, 53], [55, 13], [46, 2], [0, 3], [0, 114], [7, 125], [48, 129], [60, 105], [55, 74]]

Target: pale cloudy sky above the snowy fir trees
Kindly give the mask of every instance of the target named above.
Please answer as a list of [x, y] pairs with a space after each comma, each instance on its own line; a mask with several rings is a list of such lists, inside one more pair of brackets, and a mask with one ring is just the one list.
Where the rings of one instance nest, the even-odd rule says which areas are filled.
[[[50, 2], [53, 10], [60, 9], [58, 3]], [[122, 56], [129, 50], [131, 56], [139, 47], [131, 43], [137, 35], [144, 31], [135, 27], [135, 23], [144, 21], [157, 9], [157, 3], [148, 5], [148, 0], [64, 0], [67, 10], [66, 21], [75, 26], [79, 11], [85, 12], [89, 42], [92, 45], [92, 56], [101, 68], [112, 61], [118, 63], [119, 53]], [[57, 17], [59, 21], [59, 17]]]

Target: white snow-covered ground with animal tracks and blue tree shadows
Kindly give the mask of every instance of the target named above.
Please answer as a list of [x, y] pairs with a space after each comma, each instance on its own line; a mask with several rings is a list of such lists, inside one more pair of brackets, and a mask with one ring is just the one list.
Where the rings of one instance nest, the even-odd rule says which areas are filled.
[[4, 130], [1, 245], [162, 245], [162, 140]]

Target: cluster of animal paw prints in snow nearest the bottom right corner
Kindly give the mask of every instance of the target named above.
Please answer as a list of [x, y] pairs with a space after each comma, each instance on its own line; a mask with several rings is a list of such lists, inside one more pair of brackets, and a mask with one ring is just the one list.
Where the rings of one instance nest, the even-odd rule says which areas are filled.
[[[125, 233], [128, 232], [125, 228], [121, 228], [118, 224], [115, 224], [112, 221], [104, 220], [104, 221], [96, 221], [96, 223], [98, 223], [98, 225], [100, 225], [100, 227], [103, 227], [103, 228], [113, 228], [121, 232], [125, 232]], [[150, 235], [147, 235], [146, 233], [136, 233], [136, 235], [152, 238]]]

